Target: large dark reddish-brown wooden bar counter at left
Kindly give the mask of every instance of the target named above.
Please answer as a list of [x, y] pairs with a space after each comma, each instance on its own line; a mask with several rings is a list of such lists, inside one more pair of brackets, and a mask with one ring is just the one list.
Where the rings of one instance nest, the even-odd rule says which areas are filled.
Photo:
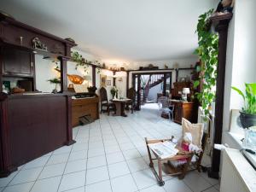
[[0, 93], [0, 177], [73, 144], [71, 93]]

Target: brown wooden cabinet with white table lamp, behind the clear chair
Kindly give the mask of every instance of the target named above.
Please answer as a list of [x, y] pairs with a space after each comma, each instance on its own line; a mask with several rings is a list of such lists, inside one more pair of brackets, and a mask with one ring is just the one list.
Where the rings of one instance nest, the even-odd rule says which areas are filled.
[[188, 119], [191, 123], [196, 123], [197, 105], [195, 102], [172, 101], [174, 105], [174, 122], [181, 124], [182, 119]]

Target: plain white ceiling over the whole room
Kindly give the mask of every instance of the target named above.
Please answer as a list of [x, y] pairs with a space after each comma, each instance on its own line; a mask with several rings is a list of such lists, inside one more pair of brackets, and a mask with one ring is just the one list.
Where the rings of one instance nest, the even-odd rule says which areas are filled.
[[1, 0], [16, 20], [73, 38], [102, 61], [193, 57], [198, 15], [218, 0]]

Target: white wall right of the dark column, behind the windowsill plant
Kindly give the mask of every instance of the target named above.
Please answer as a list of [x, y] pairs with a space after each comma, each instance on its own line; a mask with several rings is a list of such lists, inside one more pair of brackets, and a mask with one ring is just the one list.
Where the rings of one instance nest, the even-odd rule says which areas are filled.
[[256, 1], [236, 0], [233, 19], [230, 21], [224, 92], [223, 143], [231, 143], [226, 132], [230, 130], [230, 110], [240, 109], [241, 96], [231, 91], [231, 86], [245, 90], [244, 84], [256, 82]]

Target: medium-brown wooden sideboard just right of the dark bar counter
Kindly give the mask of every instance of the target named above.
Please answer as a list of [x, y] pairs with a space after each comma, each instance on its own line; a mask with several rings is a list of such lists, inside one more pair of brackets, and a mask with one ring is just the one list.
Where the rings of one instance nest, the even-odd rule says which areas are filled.
[[79, 117], [90, 115], [92, 119], [99, 119], [99, 97], [79, 98], [72, 100], [72, 125], [79, 125]]

